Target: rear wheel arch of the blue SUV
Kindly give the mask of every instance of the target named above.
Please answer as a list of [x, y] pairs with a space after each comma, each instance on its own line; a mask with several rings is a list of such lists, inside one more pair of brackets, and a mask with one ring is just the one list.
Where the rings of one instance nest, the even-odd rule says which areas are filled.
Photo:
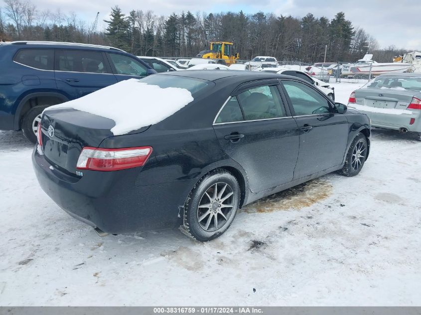
[[24, 114], [30, 108], [39, 105], [37, 104], [39, 98], [50, 100], [51, 104], [47, 105], [56, 105], [70, 101], [68, 97], [59, 92], [32, 92], [25, 95], [22, 100], [20, 100], [19, 105], [17, 105], [16, 112], [14, 114], [13, 126], [15, 130], [19, 130], [21, 128], [21, 121]]

